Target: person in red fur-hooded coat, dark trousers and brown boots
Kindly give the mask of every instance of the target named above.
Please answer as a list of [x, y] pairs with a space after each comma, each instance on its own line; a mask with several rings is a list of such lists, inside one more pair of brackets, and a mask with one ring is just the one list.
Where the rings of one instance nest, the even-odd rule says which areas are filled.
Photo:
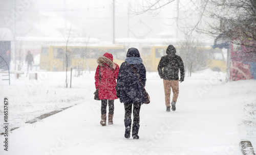
[[99, 57], [98, 67], [95, 72], [95, 87], [99, 89], [99, 99], [101, 100], [101, 121], [102, 126], [106, 125], [106, 106], [109, 102], [109, 124], [113, 124], [114, 99], [116, 95], [116, 79], [119, 66], [113, 62], [112, 54], [105, 53]]

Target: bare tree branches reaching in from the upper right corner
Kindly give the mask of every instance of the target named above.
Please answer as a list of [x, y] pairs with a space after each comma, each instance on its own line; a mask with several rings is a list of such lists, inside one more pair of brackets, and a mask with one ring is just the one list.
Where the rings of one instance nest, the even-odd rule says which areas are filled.
[[[177, 4], [176, 21], [181, 19], [179, 15], [181, 8], [194, 8], [193, 14], [197, 14], [194, 22], [182, 25], [189, 30], [188, 35], [196, 31], [214, 37], [225, 34], [230, 41], [234, 38], [256, 40], [255, 0], [188, 0], [183, 5], [184, 1], [180, 0], [145, 0], [143, 2], [137, 0], [139, 7], [132, 11], [136, 14], [158, 13], [166, 5], [176, 5], [175, 2]], [[189, 14], [186, 18], [194, 18], [193, 14]], [[243, 44], [243, 41], [234, 43]], [[255, 45], [252, 46], [255, 47]]]

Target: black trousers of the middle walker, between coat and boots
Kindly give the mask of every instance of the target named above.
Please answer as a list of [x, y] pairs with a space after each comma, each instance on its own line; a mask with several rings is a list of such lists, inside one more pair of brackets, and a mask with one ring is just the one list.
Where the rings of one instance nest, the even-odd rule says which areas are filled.
[[139, 125], [140, 123], [140, 107], [141, 103], [124, 104], [124, 125], [125, 127], [132, 124], [132, 110], [133, 110], [133, 124]]

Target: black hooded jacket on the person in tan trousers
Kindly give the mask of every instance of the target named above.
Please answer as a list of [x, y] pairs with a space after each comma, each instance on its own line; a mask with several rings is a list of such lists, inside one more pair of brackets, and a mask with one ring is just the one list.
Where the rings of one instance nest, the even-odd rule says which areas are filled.
[[184, 65], [180, 56], [175, 55], [176, 49], [173, 45], [169, 45], [166, 49], [167, 56], [163, 56], [158, 64], [158, 74], [164, 80], [184, 81]]

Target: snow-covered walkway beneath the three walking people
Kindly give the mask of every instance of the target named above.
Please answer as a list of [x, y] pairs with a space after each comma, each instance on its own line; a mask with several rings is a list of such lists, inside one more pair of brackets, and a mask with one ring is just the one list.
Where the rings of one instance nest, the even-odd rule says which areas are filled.
[[177, 110], [167, 113], [162, 80], [148, 79], [151, 104], [141, 107], [139, 140], [124, 138], [124, 108], [119, 100], [115, 100], [114, 125], [101, 126], [100, 103], [89, 92], [92, 97], [77, 106], [14, 130], [9, 151], [2, 148], [0, 154], [241, 154], [241, 97], [236, 95], [240, 87], [235, 86], [185, 79]]

